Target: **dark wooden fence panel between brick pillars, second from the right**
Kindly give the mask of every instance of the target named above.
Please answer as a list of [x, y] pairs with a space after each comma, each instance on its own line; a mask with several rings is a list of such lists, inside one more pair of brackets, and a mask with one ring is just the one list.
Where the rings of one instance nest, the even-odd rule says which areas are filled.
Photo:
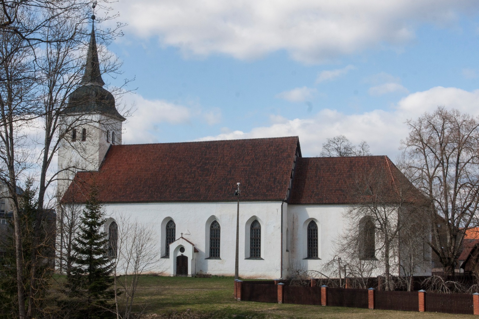
[[419, 311], [417, 292], [384, 291], [374, 292], [374, 308], [382, 310]]

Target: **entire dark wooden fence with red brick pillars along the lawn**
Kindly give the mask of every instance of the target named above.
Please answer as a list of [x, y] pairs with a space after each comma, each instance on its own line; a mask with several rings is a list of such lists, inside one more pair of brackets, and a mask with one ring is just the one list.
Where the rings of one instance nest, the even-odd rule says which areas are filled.
[[[382, 291], [374, 289], [288, 286], [274, 281], [235, 281], [238, 300], [283, 302], [300, 305], [374, 308], [382, 310], [427, 311], [479, 314], [479, 294], [439, 294], [424, 291]], [[314, 282], [312, 282], [314, 284]], [[239, 292], [240, 291], [240, 292]], [[326, 294], [326, 295], [324, 295]], [[326, 300], [322, 300], [326, 297]], [[475, 302], [474, 302], [475, 300]], [[476, 309], [474, 304], [476, 303]]]

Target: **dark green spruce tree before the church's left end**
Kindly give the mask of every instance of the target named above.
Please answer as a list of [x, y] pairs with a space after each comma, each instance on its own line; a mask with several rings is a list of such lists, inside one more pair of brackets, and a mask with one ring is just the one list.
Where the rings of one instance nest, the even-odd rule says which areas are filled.
[[106, 219], [94, 189], [80, 221], [80, 231], [72, 245], [75, 257], [72, 258], [71, 274], [67, 277], [70, 300], [76, 300], [71, 318], [116, 317], [111, 302], [115, 296], [112, 289], [114, 264], [107, 255], [108, 239], [103, 231]]

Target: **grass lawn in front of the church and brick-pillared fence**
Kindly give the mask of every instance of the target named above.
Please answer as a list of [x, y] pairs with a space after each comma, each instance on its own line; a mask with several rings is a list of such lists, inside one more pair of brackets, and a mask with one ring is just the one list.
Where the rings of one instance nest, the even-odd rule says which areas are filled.
[[[148, 314], [171, 318], [475, 318], [431, 312], [273, 304], [233, 299], [233, 278], [142, 276], [135, 304]], [[138, 308], [139, 309], [139, 308]], [[164, 314], [164, 315], [163, 315]], [[157, 318], [148, 316], [148, 318]]]

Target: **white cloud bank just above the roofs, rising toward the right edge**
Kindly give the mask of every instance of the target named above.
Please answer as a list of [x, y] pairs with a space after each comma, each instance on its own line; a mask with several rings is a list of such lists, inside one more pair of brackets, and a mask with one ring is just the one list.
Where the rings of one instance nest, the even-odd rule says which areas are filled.
[[459, 88], [435, 87], [408, 95], [390, 111], [373, 110], [346, 115], [324, 109], [312, 118], [293, 120], [273, 116], [270, 126], [257, 127], [250, 132], [225, 130], [217, 136], [206, 136], [200, 140], [298, 135], [304, 156], [315, 156], [321, 152], [326, 138], [344, 134], [353, 143], [367, 141], [373, 154], [386, 154], [394, 160], [399, 153], [400, 140], [408, 134], [404, 122], [440, 105], [479, 115], [479, 90], [469, 92]]

